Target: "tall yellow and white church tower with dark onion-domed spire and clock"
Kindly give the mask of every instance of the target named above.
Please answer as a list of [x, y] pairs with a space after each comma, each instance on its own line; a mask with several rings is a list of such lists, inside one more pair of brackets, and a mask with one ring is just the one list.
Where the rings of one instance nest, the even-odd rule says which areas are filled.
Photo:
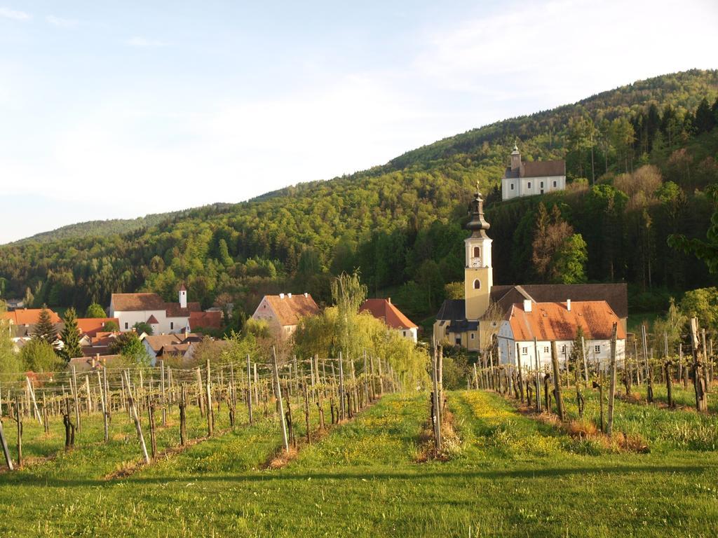
[[484, 220], [484, 201], [476, 184], [476, 194], [469, 204], [471, 237], [464, 240], [466, 267], [464, 270], [464, 298], [466, 318], [474, 321], [484, 315], [489, 307], [489, 296], [493, 285], [491, 268], [491, 240], [486, 235], [489, 224]]

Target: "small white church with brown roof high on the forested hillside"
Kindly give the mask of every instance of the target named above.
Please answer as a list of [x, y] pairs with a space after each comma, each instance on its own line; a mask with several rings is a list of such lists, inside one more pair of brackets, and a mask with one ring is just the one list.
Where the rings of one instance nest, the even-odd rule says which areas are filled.
[[511, 164], [501, 179], [501, 199], [544, 194], [566, 188], [566, 161], [522, 161], [513, 146]]

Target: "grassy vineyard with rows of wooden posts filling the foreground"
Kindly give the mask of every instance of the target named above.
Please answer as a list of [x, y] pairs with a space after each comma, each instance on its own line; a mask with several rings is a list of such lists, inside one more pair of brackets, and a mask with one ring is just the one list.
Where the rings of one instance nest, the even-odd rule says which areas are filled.
[[0, 534], [714, 536], [717, 405], [686, 355], [687, 378], [626, 357], [612, 402], [610, 369], [565, 364], [444, 390], [440, 349], [429, 392], [370, 356], [5, 380]]

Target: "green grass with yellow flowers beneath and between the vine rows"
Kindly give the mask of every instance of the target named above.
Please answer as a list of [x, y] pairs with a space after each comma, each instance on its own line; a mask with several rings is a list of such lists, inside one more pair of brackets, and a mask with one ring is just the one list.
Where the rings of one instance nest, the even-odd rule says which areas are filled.
[[[716, 430], [714, 417], [617, 403], [617, 431], [642, 435], [651, 453], [622, 453], [559, 433], [490, 392], [451, 392], [462, 443], [449, 461], [416, 463], [426, 395], [388, 395], [355, 420], [267, 470], [280, 444], [276, 423], [259, 420], [197, 443], [121, 479], [139, 456], [126, 415], [113, 415], [111, 443], [88, 417], [78, 447], [0, 475], [0, 536], [686, 536], [718, 533], [714, 447], [672, 435]], [[567, 408], [574, 407], [567, 392]], [[587, 416], [597, 399], [587, 395]], [[159, 434], [178, 442], [177, 410]], [[297, 413], [297, 418], [301, 414]], [[328, 413], [327, 413], [328, 417]], [[192, 409], [193, 437], [205, 423]], [[300, 420], [298, 420], [300, 422]], [[14, 423], [4, 420], [14, 443]], [[57, 453], [25, 423], [26, 457]], [[228, 428], [226, 412], [218, 428]], [[299, 433], [298, 433], [299, 435]], [[32, 438], [37, 438], [31, 442]]]

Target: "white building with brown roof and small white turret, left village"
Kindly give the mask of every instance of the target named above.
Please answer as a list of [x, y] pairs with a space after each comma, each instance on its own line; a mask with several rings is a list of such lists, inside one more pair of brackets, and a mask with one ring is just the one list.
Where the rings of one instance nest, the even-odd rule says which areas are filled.
[[201, 312], [200, 303], [187, 302], [187, 288], [180, 288], [179, 302], [165, 303], [157, 293], [113, 293], [110, 317], [119, 320], [120, 331], [138, 323], [149, 324], [153, 334], [180, 333], [190, 328], [190, 314]]

